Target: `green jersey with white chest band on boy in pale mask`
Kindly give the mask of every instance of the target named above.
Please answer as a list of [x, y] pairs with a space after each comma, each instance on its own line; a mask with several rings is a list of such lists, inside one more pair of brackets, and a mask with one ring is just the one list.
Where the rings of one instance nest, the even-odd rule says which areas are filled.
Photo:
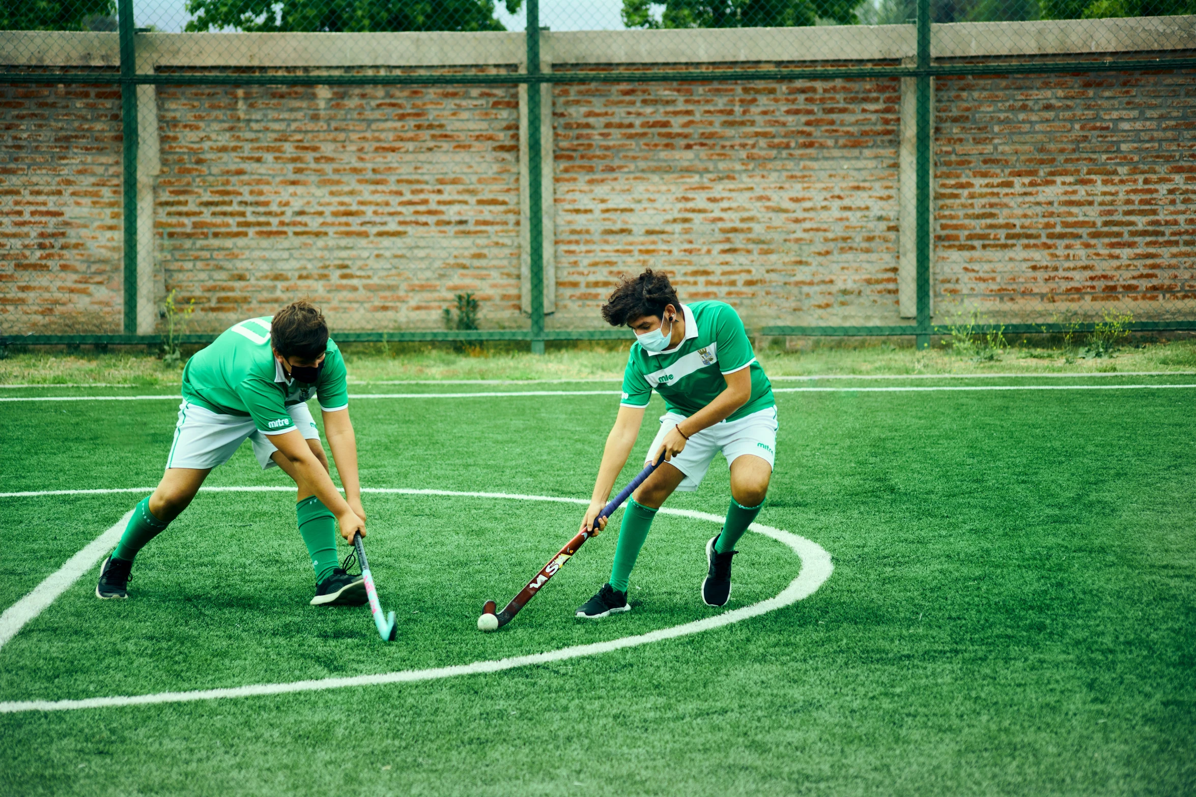
[[685, 338], [659, 354], [631, 344], [623, 373], [623, 406], [647, 406], [655, 390], [670, 412], [689, 417], [727, 388], [724, 374], [751, 368], [751, 398], [727, 421], [774, 406], [773, 386], [756, 362], [739, 314], [721, 301], [682, 305]]

